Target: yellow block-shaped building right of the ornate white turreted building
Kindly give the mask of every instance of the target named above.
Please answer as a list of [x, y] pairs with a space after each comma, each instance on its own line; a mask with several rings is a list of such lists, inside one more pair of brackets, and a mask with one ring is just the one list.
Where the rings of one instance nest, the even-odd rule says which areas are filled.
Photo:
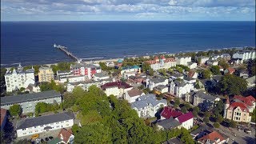
[[38, 73], [39, 82], [50, 82], [54, 78], [54, 72], [50, 67], [40, 67]]

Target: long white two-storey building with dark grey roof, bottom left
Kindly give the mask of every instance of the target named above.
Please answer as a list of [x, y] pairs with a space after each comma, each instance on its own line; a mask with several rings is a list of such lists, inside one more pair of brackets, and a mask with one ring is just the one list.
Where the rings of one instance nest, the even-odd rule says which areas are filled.
[[27, 118], [17, 124], [17, 137], [32, 134], [46, 133], [74, 125], [74, 114], [72, 112], [51, 114], [36, 118]]

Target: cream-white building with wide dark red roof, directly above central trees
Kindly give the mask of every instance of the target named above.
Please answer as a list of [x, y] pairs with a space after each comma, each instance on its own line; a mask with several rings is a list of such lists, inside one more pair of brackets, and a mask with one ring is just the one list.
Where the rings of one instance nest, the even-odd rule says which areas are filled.
[[126, 82], [108, 82], [102, 85], [101, 88], [107, 96], [113, 94], [120, 98], [126, 94], [126, 91], [131, 90], [133, 87]]

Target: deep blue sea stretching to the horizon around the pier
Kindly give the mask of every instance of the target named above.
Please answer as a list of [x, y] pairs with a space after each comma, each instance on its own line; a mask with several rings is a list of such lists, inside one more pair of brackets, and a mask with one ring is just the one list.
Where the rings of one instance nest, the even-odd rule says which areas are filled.
[[255, 46], [255, 22], [1, 22], [1, 66]]

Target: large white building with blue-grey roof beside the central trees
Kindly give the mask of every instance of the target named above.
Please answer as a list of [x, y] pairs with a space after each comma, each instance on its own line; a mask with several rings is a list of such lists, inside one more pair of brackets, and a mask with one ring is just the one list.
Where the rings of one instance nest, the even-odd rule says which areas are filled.
[[166, 100], [157, 100], [154, 94], [143, 95], [138, 101], [131, 103], [131, 107], [137, 111], [140, 118], [154, 117], [154, 114], [164, 106], [167, 106]]

